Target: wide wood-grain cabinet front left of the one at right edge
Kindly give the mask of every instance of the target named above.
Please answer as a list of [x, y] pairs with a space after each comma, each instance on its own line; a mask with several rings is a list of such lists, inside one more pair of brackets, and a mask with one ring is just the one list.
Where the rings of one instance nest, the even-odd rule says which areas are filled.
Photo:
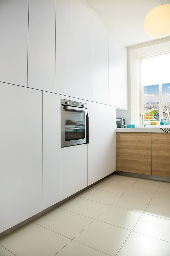
[[151, 175], [151, 133], [120, 134], [120, 171]]

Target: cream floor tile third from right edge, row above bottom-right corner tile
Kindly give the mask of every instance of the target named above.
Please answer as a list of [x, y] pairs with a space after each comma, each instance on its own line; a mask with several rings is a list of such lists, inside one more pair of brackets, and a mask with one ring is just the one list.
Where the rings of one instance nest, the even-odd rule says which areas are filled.
[[77, 204], [73, 205], [68, 211], [77, 213], [92, 219], [96, 219], [109, 206], [99, 202], [83, 199]]

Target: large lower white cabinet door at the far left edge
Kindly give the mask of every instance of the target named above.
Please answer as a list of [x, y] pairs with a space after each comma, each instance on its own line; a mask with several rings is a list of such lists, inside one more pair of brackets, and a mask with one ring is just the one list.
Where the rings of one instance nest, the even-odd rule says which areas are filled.
[[43, 210], [42, 92], [0, 83], [0, 232]]

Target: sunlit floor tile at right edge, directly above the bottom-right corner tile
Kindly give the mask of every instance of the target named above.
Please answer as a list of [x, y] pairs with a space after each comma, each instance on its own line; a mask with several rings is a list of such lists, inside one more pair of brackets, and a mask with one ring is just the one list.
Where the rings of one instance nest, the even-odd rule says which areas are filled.
[[141, 216], [133, 231], [170, 242], [170, 220], [149, 214]]

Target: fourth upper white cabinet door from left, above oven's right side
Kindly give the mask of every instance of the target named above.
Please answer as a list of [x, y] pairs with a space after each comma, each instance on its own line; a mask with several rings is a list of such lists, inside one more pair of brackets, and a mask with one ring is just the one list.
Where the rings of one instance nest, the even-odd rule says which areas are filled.
[[71, 96], [93, 100], [93, 16], [71, 1]]

